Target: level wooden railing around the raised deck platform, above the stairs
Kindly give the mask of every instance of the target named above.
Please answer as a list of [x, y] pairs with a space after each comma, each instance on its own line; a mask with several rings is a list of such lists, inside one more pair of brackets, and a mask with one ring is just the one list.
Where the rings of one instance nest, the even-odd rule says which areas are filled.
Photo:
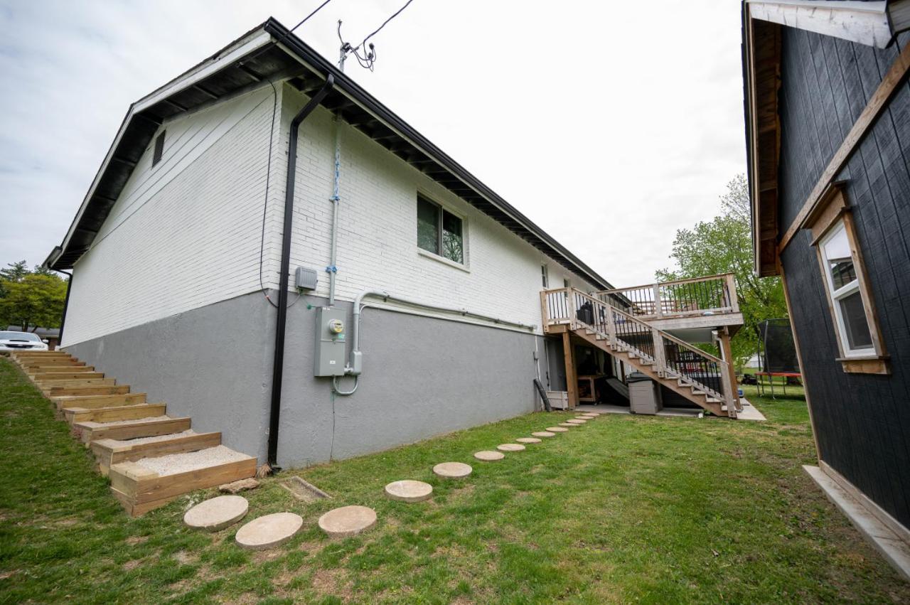
[[647, 319], [739, 313], [733, 273], [602, 290], [594, 296]]

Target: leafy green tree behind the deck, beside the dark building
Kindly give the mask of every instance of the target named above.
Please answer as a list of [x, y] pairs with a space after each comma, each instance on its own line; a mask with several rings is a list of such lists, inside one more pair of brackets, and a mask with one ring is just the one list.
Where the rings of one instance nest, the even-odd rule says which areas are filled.
[[721, 197], [723, 214], [680, 229], [673, 240], [674, 269], [661, 269], [660, 281], [702, 277], [720, 273], [736, 275], [736, 294], [743, 312], [743, 328], [731, 341], [737, 365], [758, 350], [758, 325], [764, 319], [785, 318], [784, 287], [778, 277], [756, 277], [753, 272], [752, 227], [749, 187], [745, 176], [737, 175]]

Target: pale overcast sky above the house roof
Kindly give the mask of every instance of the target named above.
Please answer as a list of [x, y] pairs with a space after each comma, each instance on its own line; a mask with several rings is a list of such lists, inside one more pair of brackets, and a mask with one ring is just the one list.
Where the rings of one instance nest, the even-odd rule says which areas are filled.
[[[0, 264], [60, 243], [126, 108], [320, 0], [0, 0]], [[334, 60], [404, 0], [298, 29]], [[739, 3], [414, 0], [347, 73], [615, 286], [672, 264], [745, 169]]]

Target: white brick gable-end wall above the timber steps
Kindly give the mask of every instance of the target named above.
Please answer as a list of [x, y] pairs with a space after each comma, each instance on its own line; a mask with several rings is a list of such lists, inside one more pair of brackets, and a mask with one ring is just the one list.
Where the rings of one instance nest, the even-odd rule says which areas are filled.
[[258, 289], [272, 108], [266, 87], [161, 126], [73, 269], [65, 345]]

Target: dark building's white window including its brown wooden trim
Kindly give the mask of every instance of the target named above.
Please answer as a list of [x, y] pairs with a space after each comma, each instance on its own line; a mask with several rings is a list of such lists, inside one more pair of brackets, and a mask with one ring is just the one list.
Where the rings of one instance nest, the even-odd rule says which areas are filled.
[[804, 227], [812, 229], [841, 354], [838, 361], [845, 372], [890, 373], [853, 215], [841, 187], [822, 199]]

